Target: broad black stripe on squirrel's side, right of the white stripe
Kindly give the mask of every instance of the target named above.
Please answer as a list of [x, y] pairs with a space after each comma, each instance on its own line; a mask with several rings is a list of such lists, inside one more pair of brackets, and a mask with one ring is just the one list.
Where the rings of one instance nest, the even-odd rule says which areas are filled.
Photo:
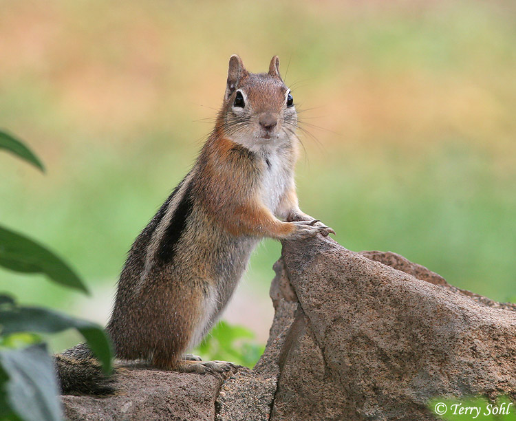
[[191, 197], [191, 185], [186, 186], [184, 195], [175, 208], [169, 225], [158, 246], [156, 258], [160, 263], [172, 263], [175, 255], [175, 246], [178, 244], [181, 235], [186, 228], [186, 219], [192, 213], [193, 199]]

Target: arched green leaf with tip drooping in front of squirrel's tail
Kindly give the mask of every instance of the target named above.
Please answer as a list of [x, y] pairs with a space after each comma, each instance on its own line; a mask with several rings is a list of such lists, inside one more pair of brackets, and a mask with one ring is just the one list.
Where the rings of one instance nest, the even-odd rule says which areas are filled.
[[111, 342], [100, 325], [41, 307], [14, 307], [0, 310], [1, 334], [15, 332], [57, 333], [78, 330], [98, 358], [106, 374], [111, 372]]

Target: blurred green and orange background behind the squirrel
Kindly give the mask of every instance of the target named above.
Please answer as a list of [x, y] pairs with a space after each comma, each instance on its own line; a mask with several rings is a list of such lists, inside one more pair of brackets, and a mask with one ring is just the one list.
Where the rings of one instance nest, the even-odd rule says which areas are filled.
[[[84, 298], [1, 271], [1, 290], [105, 323], [125, 253], [195, 160], [228, 58], [278, 54], [300, 110], [301, 208], [351, 250], [392, 250], [460, 288], [516, 296], [513, 1], [0, 0], [0, 221], [71, 262]], [[288, 72], [287, 72], [288, 70]], [[225, 319], [265, 342], [280, 246]], [[345, 292], [343, 292], [345, 294]], [[52, 339], [54, 349], [78, 338]]]

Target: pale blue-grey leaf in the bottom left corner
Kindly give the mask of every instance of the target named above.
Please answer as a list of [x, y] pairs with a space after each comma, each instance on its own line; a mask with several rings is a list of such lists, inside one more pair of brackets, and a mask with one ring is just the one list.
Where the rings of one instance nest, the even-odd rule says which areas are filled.
[[3, 399], [24, 421], [62, 421], [54, 362], [44, 344], [0, 351]]

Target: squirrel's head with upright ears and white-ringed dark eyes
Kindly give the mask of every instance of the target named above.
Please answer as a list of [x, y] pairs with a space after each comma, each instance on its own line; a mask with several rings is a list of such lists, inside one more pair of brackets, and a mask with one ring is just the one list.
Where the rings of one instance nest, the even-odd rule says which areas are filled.
[[237, 55], [229, 59], [219, 129], [250, 150], [290, 142], [297, 113], [290, 89], [279, 75], [279, 58], [272, 57], [268, 73], [249, 73]]

